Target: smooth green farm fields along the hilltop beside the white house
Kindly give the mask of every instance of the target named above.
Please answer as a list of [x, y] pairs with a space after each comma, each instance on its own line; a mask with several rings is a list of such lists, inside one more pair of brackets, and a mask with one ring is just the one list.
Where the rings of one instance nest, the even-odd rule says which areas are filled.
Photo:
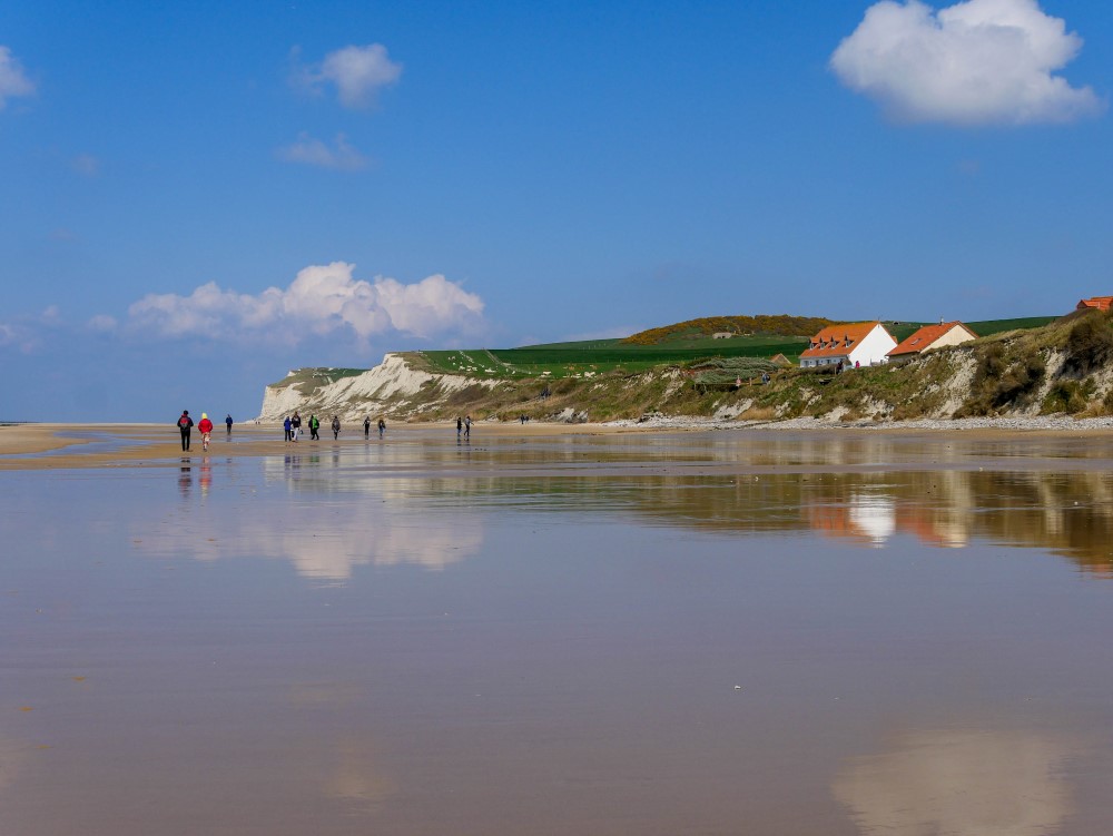
[[[979, 336], [1016, 328], [1035, 328], [1054, 316], [1022, 319], [988, 319], [967, 323]], [[885, 327], [898, 342], [926, 323], [886, 322]], [[424, 351], [431, 372], [463, 374], [486, 378], [590, 377], [612, 371], [643, 372], [660, 365], [687, 365], [712, 357], [772, 357], [784, 354], [792, 363], [807, 347], [808, 337], [754, 334], [730, 340], [712, 337], [670, 340], [657, 345], [636, 345], [620, 340], [589, 340], [581, 343], [546, 343], [521, 348], [470, 348], [466, 351]]]

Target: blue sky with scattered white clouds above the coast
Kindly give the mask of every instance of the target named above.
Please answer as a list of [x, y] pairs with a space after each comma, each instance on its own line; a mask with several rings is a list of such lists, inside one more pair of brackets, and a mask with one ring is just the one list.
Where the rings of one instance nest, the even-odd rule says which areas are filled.
[[0, 419], [1113, 293], [1113, 7], [0, 4]]

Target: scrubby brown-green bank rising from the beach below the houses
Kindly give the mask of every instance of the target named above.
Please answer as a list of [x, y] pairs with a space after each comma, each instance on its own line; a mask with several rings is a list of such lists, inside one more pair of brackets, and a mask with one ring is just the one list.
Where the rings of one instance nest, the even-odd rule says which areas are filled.
[[[943, 415], [945, 407], [954, 406], [948, 406], [948, 400], [954, 400], [956, 393], [948, 385], [964, 368], [967, 373], [977, 371], [957, 394], [961, 414], [1005, 414], [1016, 410], [1103, 414], [1109, 409], [1106, 401], [1113, 405], [1113, 395], [1106, 399], [1103, 385], [1095, 383], [1097, 372], [1083, 378], [1062, 366], [1062, 357], [1070, 354], [1073, 325], [1056, 322], [1033, 327], [1051, 318], [978, 323], [989, 336], [933, 352], [907, 366], [864, 368], [838, 377], [790, 368], [774, 372], [769, 385], [755, 380], [743, 382], [739, 389], [697, 385], [679, 364], [658, 365], [642, 373], [613, 368], [590, 378], [505, 378], [490, 392], [475, 393], [474, 400], [462, 396], [434, 409], [429, 416], [445, 417], [454, 410], [467, 409], [480, 417], [526, 414], [545, 419], [570, 410], [588, 420], [608, 421], [648, 412], [712, 415], [726, 410], [743, 411], [742, 417], [774, 419], [818, 416], [838, 410], [846, 420], [912, 419]], [[1109, 321], [1102, 318], [1102, 323], [1103, 333], [1113, 343]], [[1003, 331], [1009, 325], [1025, 328]], [[892, 330], [907, 335], [916, 327], [916, 323], [902, 323]], [[1113, 360], [1113, 350], [1110, 357]], [[1036, 366], [1042, 371], [1031, 372]], [[546, 400], [539, 397], [543, 387], [551, 391]]]

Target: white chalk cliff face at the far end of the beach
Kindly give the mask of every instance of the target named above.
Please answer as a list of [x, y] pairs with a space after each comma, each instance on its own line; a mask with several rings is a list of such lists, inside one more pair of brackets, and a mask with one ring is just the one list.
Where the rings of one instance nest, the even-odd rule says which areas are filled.
[[[431, 374], [410, 366], [401, 354], [387, 354], [383, 362], [366, 372], [331, 374], [335, 370], [290, 372], [285, 381], [266, 387], [259, 421], [282, 421], [295, 410], [303, 416], [311, 412], [341, 421], [375, 420], [378, 414], [408, 416], [439, 405], [453, 392], [466, 386], [494, 385], [453, 374]], [[421, 403], [412, 399], [422, 392]]]

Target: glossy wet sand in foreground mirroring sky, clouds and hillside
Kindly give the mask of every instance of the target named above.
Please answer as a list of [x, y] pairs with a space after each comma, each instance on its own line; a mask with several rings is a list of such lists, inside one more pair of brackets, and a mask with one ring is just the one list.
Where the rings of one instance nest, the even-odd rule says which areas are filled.
[[0, 833], [1109, 829], [1103, 461], [743, 443], [3, 473]]

